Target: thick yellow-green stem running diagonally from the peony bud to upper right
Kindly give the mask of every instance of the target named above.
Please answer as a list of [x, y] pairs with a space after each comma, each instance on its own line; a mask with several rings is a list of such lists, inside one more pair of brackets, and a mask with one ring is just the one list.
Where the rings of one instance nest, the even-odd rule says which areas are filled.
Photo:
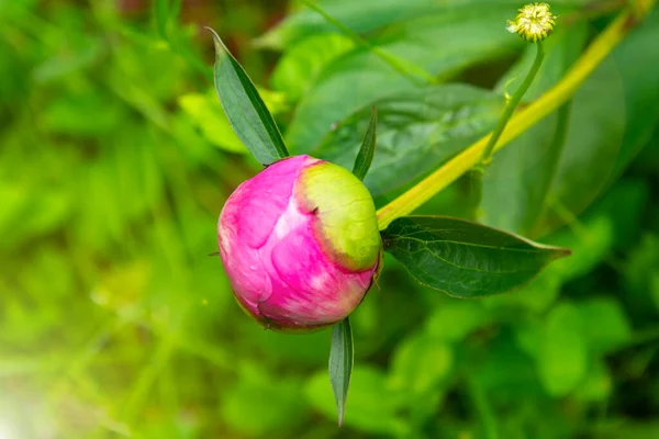
[[[602, 63], [613, 48], [629, 32], [629, 12], [623, 12], [602, 32], [597, 38], [581, 55], [570, 71], [554, 88], [544, 93], [538, 100], [515, 114], [501, 134], [494, 151], [520, 136], [528, 127], [547, 116], [567, 102], [579, 89], [588, 76]], [[407, 215], [420, 207], [437, 192], [456, 181], [460, 176], [478, 165], [491, 134], [484, 136], [461, 154], [446, 162], [443, 167], [423, 179], [412, 189], [378, 211], [378, 225], [384, 229], [393, 219]]]

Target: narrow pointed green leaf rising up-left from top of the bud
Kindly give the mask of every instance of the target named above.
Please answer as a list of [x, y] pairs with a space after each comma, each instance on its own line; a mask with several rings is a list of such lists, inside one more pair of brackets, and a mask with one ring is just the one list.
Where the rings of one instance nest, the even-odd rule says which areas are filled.
[[256, 87], [215, 31], [208, 29], [215, 44], [215, 90], [231, 126], [263, 165], [288, 157], [279, 128]]

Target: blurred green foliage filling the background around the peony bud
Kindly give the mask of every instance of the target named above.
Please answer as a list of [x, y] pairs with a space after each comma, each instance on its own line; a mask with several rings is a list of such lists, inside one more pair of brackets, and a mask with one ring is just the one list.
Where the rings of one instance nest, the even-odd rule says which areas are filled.
[[[559, 21], [528, 99], [624, 5], [557, 3], [565, 31]], [[504, 30], [518, 2], [321, 4], [496, 102], [528, 65], [528, 46]], [[272, 31], [297, 7], [0, 0], [0, 438], [659, 437], [659, 13], [548, 117], [570, 121], [565, 138], [539, 124], [488, 173], [482, 221], [573, 255], [482, 301], [420, 286], [387, 258], [354, 314], [338, 429], [330, 333], [265, 331], [208, 256], [224, 200], [259, 166], [212, 91], [203, 25], [260, 87], [293, 151], [379, 99], [414, 95], [320, 15]], [[433, 116], [455, 128], [439, 145], [463, 147], [495, 121], [472, 123], [460, 105]], [[384, 119], [394, 134], [382, 157], [414, 139], [401, 128], [396, 140], [395, 121]], [[555, 138], [562, 161], [538, 202], [534, 177], [555, 162], [543, 149]], [[386, 165], [380, 182], [391, 182]], [[417, 177], [382, 189], [378, 204]], [[423, 211], [469, 216], [477, 192], [462, 179]]]

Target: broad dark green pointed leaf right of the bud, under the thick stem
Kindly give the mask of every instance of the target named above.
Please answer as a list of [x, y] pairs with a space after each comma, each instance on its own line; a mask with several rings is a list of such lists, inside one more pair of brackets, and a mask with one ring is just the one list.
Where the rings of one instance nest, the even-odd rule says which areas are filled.
[[421, 283], [456, 297], [481, 297], [523, 285], [569, 250], [465, 219], [406, 216], [382, 232], [384, 249]]

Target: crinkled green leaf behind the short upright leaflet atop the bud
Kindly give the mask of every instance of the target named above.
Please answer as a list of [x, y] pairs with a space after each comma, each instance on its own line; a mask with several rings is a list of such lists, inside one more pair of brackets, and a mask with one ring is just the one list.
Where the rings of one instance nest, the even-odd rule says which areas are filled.
[[[494, 126], [503, 99], [467, 85], [433, 86], [383, 99], [378, 109], [378, 153], [364, 180], [379, 195], [434, 170]], [[345, 120], [313, 151], [350, 169], [371, 109]]]

